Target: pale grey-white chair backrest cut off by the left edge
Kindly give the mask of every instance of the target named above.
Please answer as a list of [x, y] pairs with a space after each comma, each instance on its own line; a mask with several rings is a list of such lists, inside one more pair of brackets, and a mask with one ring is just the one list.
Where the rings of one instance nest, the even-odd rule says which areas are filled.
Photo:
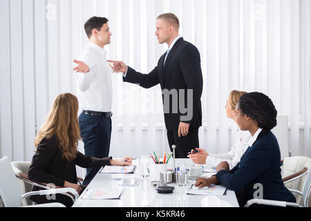
[[21, 189], [8, 157], [0, 160], [0, 189], [6, 206], [22, 206]]

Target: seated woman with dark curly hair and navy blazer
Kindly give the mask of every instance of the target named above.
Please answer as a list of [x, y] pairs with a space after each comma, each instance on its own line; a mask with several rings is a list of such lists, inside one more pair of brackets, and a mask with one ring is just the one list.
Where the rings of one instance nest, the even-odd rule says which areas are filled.
[[202, 188], [221, 184], [234, 190], [240, 206], [253, 198], [296, 202], [282, 182], [279, 144], [270, 131], [276, 126], [276, 113], [271, 99], [263, 93], [241, 96], [236, 105], [236, 122], [242, 131], [251, 133], [249, 148], [234, 169], [227, 171], [222, 162], [216, 167], [216, 175], [198, 178], [195, 185]]

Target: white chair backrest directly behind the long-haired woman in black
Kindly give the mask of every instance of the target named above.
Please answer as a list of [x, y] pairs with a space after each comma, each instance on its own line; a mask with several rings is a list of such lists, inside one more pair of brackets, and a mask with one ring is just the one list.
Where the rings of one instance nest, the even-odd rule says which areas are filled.
[[[11, 162], [12, 169], [15, 173], [15, 175], [19, 175], [19, 173], [24, 173], [28, 175], [28, 169], [30, 167], [31, 162], [28, 161], [13, 161]], [[32, 184], [29, 184], [28, 182], [24, 182], [21, 179], [17, 179], [17, 182], [19, 183], [19, 186], [21, 187], [21, 194], [28, 193], [32, 191]], [[23, 206], [31, 205], [32, 201], [27, 198], [23, 199]]]

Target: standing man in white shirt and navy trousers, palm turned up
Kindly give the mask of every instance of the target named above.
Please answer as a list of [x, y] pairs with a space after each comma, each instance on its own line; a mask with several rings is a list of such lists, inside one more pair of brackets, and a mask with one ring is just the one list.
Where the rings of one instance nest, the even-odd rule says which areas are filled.
[[[108, 157], [111, 141], [111, 70], [106, 61], [104, 46], [110, 44], [111, 32], [108, 19], [91, 17], [84, 24], [89, 44], [74, 60], [77, 67], [77, 97], [82, 113], [79, 128], [84, 142], [85, 155]], [[100, 168], [87, 169], [84, 185], [87, 185]]]

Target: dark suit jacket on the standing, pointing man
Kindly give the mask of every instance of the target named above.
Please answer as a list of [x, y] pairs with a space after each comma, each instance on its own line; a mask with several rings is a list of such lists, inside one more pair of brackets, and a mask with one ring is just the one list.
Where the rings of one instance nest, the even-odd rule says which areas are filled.
[[[200, 65], [200, 52], [193, 44], [184, 41], [182, 37], [176, 41], [167, 56], [165, 65], [163, 66], [166, 52], [160, 57], [158, 66], [151, 73], [144, 75], [138, 73], [133, 68], [128, 68], [126, 77], [123, 81], [133, 84], [140, 84], [143, 88], [151, 88], [160, 84], [161, 89], [185, 89], [185, 104], [187, 106], [187, 89], [192, 89], [193, 95], [193, 117], [189, 121], [182, 121], [191, 124], [193, 128], [202, 125], [202, 71]], [[164, 121], [168, 130], [177, 131], [180, 123], [180, 116], [187, 115], [182, 113], [179, 108], [180, 93], [178, 94], [178, 111], [173, 113], [172, 99], [169, 99], [169, 113], [164, 113]], [[162, 94], [164, 102], [164, 96]]]

